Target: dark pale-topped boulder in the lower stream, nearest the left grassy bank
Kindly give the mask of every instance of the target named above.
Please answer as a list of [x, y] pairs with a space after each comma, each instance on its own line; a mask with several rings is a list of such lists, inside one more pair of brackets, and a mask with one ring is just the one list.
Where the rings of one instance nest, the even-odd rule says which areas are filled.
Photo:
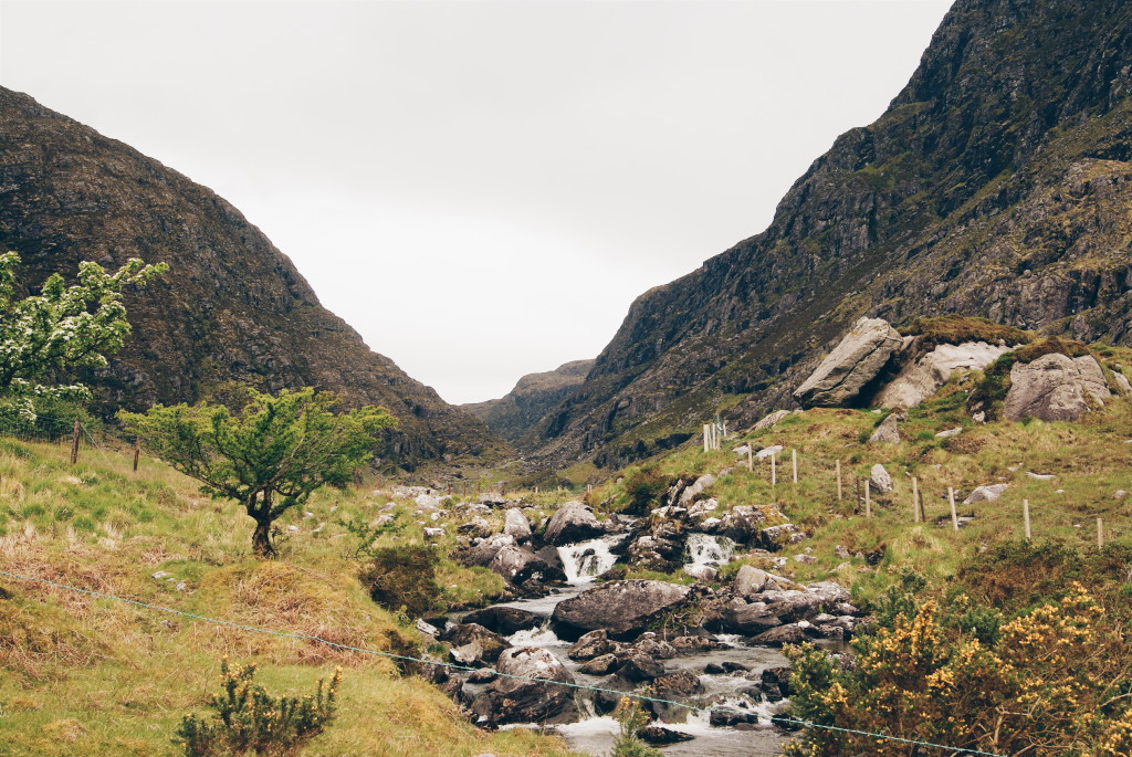
[[[576, 717], [574, 677], [555, 655], [537, 647], [512, 647], [499, 655], [504, 673], [475, 697], [472, 712], [481, 725], [505, 723], [567, 723]], [[515, 676], [517, 678], [508, 678]], [[528, 679], [543, 680], [528, 680]]]

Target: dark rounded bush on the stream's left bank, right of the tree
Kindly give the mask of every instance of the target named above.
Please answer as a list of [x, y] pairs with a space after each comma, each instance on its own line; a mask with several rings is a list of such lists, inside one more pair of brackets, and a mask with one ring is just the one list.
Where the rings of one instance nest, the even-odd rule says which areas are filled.
[[427, 544], [398, 544], [369, 551], [359, 580], [383, 608], [419, 618], [436, 605], [438, 558]]

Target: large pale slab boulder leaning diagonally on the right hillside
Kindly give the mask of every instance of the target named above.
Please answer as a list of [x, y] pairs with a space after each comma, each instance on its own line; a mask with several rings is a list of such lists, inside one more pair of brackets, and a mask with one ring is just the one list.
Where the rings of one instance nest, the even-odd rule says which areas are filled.
[[851, 405], [884, 368], [903, 337], [883, 318], [861, 318], [794, 392], [803, 407]]

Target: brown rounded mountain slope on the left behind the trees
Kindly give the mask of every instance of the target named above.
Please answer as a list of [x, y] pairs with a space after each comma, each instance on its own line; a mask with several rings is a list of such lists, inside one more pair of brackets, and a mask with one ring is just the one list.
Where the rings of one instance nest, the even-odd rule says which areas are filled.
[[396, 415], [386, 454], [402, 465], [498, 455], [481, 421], [370, 351], [323, 308], [291, 261], [207, 188], [114, 139], [0, 88], [0, 248], [20, 278], [74, 276], [80, 260], [165, 261], [126, 296], [134, 333], [88, 377], [101, 408], [195, 402], [233, 380], [315, 386]]

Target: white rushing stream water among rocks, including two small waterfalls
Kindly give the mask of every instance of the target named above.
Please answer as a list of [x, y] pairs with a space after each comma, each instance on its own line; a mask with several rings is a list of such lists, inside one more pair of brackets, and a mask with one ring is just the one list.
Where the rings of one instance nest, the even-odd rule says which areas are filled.
[[[559, 639], [554, 630], [550, 629], [550, 614], [554, 612], [555, 605], [590, 588], [595, 576], [612, 567], [617, 557], [610, 550], [621, 539], [624, 539], [624, 535], [608, 535], [558, 548], [569, 585], [547, 596], [503, 603], [500, 607], [517, 608], [546, 619], [546, 622], [541, 627], [517, 631], [509, 636], [508, 640], [515, 646], [537, 646], [547, 650], [561, 661], [581, 685], [608, 686], [603, 677], [588, 676], [580, 672], [578, 668], [583, 663], [575, 662], [567, 656], [572, 643]], [[715, 537], [706, 536], [689, 547], [687, 556], [688, 566], [697, 567], [726, 561], [730, 557], [734, 543], [723, 537], [717, 540]], [[717, 636], [717, 638], [727, 643], [729, 647], [681, 654], [672, 660], [663, 661], [664, 666], [668, 672], [688, 670], [698, 676], [706, 693], [691, 698], [689, 704], [710, 706], [707, 702], [710, 699], [711, 704], [719, 707], [754, 712], [758, 714], [758, 724], [741, 725], [740, 728], [713, 726], [709, 724], [706, 713], [687, 711], [685, 722], [666, 723], [657, 721], [654, 724], [695, 738], [691, 741], [660, 746], [658, 748], [664, 755], [672, 757], [702, 757], [704, 755], [711, 755], [712, 757], [744, 755], [751, 757], [752, 755], [778, 755], [781, 745], [788, 737], [779, 729], [772, 726], [770, 720], [778, 712], [781, 703], [754, 702], [740, 691], [741, 689], [757, 687], [763, 669], [786, 666], [789, 662], [778, 650], [763, 646], [748, 646], [744, 644], [741, 637]], [[722, 674], [706, 674], [703, 670], [709, 663], [738, 663], [748, 670]], [[583, 691], [580, 694], [580, 697], [582, 720], [568, 725], [558, 725], [555, 730], [575, 750], [590, 755], [607, 755], [619, 733], [619, 725], [610, 716], [593, 715], [595, 711], [589, 693]], [[586, 713], [590, 716], [586, 716]], [[520, 724], [513, 728], [523, 726]]]

